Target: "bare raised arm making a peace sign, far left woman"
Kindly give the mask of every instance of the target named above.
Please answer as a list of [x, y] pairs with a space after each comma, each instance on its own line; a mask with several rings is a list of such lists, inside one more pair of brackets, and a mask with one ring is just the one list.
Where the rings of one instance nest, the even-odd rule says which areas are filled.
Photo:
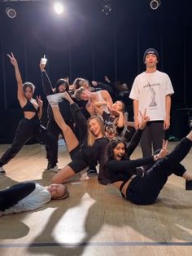
[[7, 54], [7, 56], [10, 58], [11, 64], [15, 68], [15, 77], [17, 82], [17, 99], [20, 101], [20, 105], [23, 105], [26, 103], [27, 99], [24, 96], [23, 82], [20, 75], [20, 69], [13, 53], [11, 52], [11, 55]]

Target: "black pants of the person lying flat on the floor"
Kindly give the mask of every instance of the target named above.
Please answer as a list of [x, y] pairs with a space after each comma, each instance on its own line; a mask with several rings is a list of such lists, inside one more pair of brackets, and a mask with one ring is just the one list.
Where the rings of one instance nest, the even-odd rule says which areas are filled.
[[34, 182], [18, 183], [0, 191], [0, 210], [9, 209], [28, 196], [35, 189]]

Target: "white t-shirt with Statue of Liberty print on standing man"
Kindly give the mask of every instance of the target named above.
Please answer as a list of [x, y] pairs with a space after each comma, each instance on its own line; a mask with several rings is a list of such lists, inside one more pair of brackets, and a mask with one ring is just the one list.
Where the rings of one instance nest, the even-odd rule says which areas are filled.
[[[164, 120], [166, 116], [165, 98], [172, 95], [172, 82], [166, 73], [156, 70], [154, 73], [143, 72], [134, 82], [129, 95], [138, 101], [138, 111], [150, 117], [150, 121]], [[141, 117], [138, 114], [139, 121]]]

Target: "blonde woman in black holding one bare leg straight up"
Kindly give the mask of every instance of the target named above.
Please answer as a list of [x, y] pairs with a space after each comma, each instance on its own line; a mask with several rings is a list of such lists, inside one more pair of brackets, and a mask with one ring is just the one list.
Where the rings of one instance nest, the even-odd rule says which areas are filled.
[[[68, 100], [73, 121], [76, 122], [76, 126], [81, 131], [79, 141], [59, 111], [58, 103], [63, 97]], [[100, 164], [108, 139], [105, 137], [101, 118], [94, 116], [86, 120], [81, 109], [73, 102], [68, 92], [48, 95], [46, 98], [52, 107], [56, 123], [63, 131], [68, 152], [72, 158], [72, 161], [62, 170], [59, 170], [52, 179], [53, 183], [64, 183], [81, 170]]]

